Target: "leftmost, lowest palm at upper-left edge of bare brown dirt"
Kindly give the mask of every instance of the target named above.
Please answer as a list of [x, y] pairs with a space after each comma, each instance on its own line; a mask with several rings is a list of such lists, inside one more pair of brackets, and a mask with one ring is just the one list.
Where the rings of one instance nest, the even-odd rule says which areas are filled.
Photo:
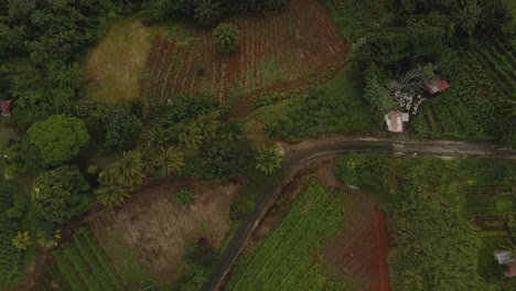
[[100, 183], [100, 187], [94, 193], [104, 206], [122, 206], [125, 200], [129, 197], [122, 184], [111, 172], [103, 171], [98, 175], [98, 182]]

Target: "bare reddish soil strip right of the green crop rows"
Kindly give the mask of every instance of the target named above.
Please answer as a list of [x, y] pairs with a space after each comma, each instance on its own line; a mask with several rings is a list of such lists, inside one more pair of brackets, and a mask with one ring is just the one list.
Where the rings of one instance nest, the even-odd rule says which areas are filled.
[[356, 195], [347, 230], [329, 244], [326, 260], [336, 278], [353, 281], [359, 290], [389, 291], [385, 214], [368, 194]]

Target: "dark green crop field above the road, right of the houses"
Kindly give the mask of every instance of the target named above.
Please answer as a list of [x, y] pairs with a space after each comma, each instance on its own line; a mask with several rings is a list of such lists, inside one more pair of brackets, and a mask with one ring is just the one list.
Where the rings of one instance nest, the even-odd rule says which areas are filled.
[[412, 128], [421, 138], [506, 139], [506, 100], [516, 91], [516, 61], [501, 41], [472, 42], [450, 63], [451, 87], [421, 107]]

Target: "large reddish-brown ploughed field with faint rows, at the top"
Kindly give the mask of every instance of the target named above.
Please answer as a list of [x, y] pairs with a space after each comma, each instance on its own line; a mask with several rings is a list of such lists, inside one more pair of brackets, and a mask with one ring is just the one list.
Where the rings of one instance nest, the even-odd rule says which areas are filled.
[[[266, 90], [307, 87], [318, 73], [344, 65], [346, 46], [321, 1], [292, 0], [282, 11], [234, 23], [240, 30], [240, 47], [230, 55], [215, 51], [209, 30], [187, 31], [179, 40], [174, 31], [155, 37], [142, 77], [143, 96], [166, 99], [195, 93], [223, 100], [238, 89], [250, 98]], [[204, 74], [198, 74], [200, 67]]]

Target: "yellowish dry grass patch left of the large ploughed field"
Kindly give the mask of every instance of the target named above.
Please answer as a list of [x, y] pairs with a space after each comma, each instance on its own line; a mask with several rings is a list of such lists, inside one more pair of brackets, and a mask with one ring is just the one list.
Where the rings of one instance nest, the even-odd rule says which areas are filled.
[[138, 97], [152, 41], [165, 32], [165, 28], [144, 26], [135, 19], [114, 24], [84, 58], [87, 96], [111, 104]]

